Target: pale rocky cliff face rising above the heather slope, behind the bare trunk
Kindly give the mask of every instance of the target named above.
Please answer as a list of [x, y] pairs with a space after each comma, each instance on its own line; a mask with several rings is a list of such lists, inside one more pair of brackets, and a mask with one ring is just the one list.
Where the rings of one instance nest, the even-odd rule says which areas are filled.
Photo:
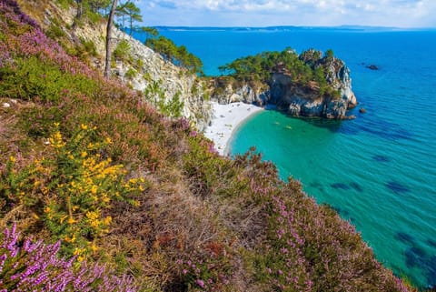
[[[64, 35], [63, 45], [70, 45], [72, 50], [75, 50], [84, 44], [91, 44], [94, 53], [84, 52], [84, 55], [88, 55], [91, 65], [103, 72], [106, 33], [104, 21], [90, 23], [84, 20], [74, 25], [73, 7], [64, 8], [51, 1], [43, 4], [39, 3], [40, 1], [19, 0], [18, 2], [45, 31], [56, 29], [57, 39], [61, 39]], [[186, 69], [164, 60], [161, 55], [132, 36], [114, 28], [113, 48], [123, 41], [128, 44], [128, 47], [124, 57], [114, 58], [113, 75], [134, 90], [144, 91], [148, 86], [158, 85], [165, 99], [163, 104], [170, 102], [173, 96], [178, 96], [183, 102], [182, 116], [202, 130], [212, 116], [203, 82]]]

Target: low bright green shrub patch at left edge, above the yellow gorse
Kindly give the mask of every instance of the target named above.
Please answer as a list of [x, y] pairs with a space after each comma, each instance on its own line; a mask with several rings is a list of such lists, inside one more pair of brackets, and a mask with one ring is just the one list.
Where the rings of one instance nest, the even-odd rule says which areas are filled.
[[65, 91], [92, 96], [97, 89], [88, 77], [64, 72], [34, 56], [1, 67], [0, 80], [0, 96], [25, 100], [59, 101]]

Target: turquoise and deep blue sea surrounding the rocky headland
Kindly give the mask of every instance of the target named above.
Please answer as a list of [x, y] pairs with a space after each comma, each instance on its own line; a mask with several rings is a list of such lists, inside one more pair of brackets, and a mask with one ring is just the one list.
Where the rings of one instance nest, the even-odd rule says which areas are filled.
[[[332, 48], [350, 67], [360, 105], [351, 121], [263, 111], [233, 135], [256, 146], [283, 179], [350, 220], [376, 257], [419, 287], [436, 285], [436, 31], [164, 29], [203, 60], [207, 75], [237, 57], [287, 46]], [[144, 35], [136, 35], [144, 40]], [[377, 65], [372, 71], [366, 65]], [[367, 109], [360, 114], [359, 108]]]

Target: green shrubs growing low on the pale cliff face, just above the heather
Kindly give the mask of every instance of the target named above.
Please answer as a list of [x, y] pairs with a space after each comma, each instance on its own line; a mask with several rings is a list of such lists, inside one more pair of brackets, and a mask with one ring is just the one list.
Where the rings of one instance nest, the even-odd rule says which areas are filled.
[[158, 81], [152, 81], [144, 90], [145, 99], [163, 115], [181, 117], [184, 106], [183, 100], [180, 99], [181, 93], [177, 92], [171, 99], [167, 100], [160, 84]]

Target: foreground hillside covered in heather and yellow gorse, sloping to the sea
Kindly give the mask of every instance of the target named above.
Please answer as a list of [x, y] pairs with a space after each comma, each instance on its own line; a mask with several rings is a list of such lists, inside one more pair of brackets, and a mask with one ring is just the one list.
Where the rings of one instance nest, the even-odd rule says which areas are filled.
[[255, 151], [218, 156], [151, 93], [104, 80], [14, 2], [0, 9], [5, 289], [408, 291]]

